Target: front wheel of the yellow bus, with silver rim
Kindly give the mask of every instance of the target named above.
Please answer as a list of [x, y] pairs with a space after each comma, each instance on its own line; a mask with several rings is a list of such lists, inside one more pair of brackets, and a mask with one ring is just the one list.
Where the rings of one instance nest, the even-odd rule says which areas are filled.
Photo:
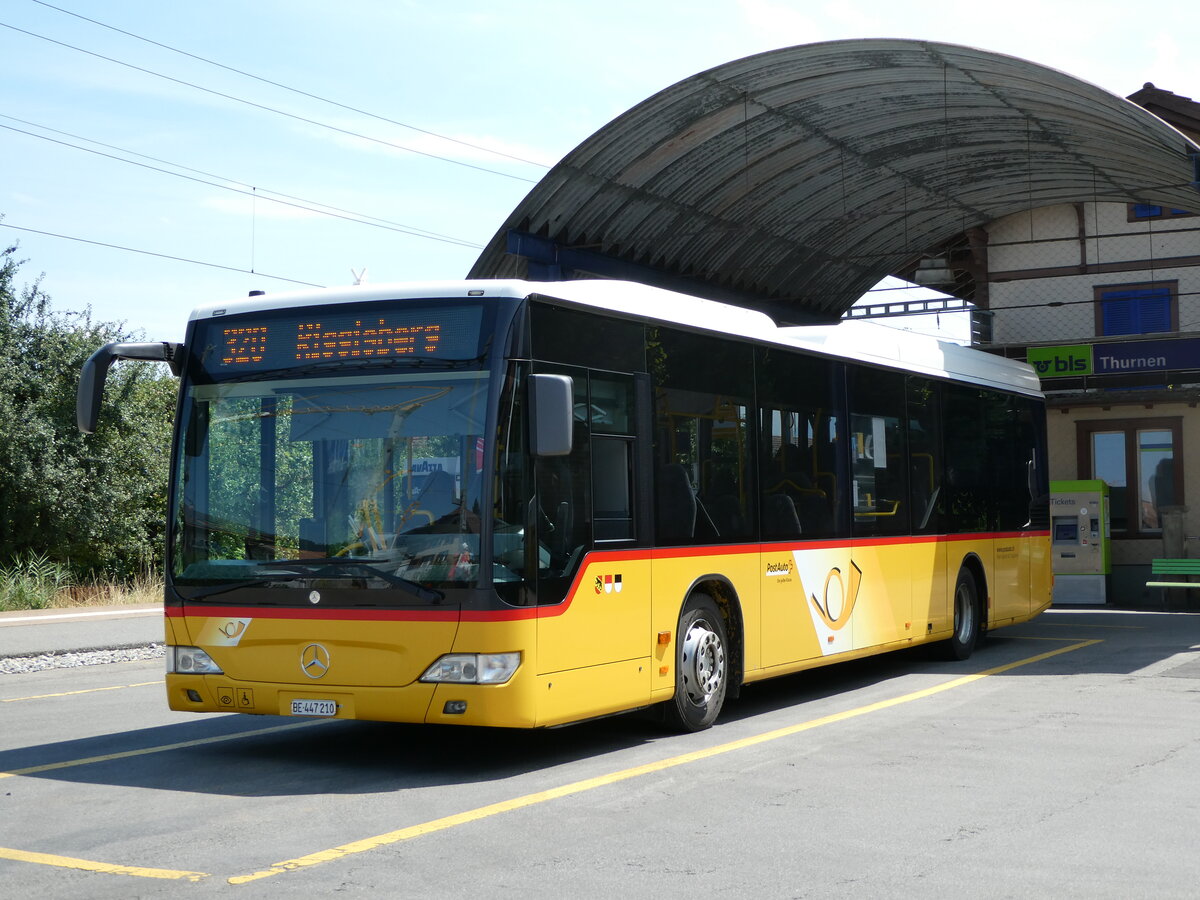
[[666, 719], [679, 731], [703, 731], [720, 715], [730, 684], [725, 617], [708, 594], [692, 594], [676, 634], [676, 694]]

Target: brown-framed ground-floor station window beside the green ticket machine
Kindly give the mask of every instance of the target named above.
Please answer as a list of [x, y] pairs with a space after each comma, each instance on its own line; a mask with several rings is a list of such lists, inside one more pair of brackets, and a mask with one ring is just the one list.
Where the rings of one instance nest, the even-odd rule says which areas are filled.
[[1163, 533], [1159, 510], [1183, 502], [1183, 426], [1169, 419], [1076, 422], [1080, 478], [1109, 485], [1112, 533]]

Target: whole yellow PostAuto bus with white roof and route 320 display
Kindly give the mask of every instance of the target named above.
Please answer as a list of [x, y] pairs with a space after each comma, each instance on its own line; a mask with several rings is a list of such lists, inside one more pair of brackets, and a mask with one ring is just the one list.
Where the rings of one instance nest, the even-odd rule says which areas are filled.
[[166, 589], [173, 709], [544, 727], [1050, 605], [1025, 364], [641, 284], [361, 286], [197, 310]]

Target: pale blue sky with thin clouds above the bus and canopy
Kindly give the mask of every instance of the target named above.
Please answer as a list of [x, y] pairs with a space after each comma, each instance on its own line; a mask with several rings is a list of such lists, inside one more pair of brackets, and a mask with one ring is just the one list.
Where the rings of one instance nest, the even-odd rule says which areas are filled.
[[466, 276], [576, 145], [750, 54], [944, 41], [1200, 97], [1196, 34], [1184, 0], [2, 0], [0, 240], [55, 310], [179, 341], [250, 290]]

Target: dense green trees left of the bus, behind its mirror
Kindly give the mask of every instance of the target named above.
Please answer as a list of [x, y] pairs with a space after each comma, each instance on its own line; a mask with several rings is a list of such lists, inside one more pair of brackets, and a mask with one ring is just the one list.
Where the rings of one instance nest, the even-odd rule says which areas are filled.
[[79, 574], [160, 568], [175, 380], [161, 364], [109, 373], [95, 434], [74, 422], [84, 360], [120, 325], [60, 313], [0, 259], [0, 560], [46, 558]]

